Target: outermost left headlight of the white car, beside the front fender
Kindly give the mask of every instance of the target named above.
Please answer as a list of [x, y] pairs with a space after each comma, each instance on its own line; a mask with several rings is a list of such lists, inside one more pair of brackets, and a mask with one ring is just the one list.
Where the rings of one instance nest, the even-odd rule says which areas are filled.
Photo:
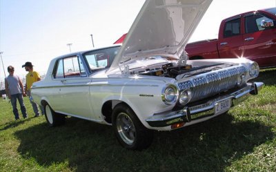
[[174, 85], [168, 85], [164, 88], [162, 93], [162, 100], [165, 104], [175, 104], [178, 99], [178, 90], [177, 87]]

